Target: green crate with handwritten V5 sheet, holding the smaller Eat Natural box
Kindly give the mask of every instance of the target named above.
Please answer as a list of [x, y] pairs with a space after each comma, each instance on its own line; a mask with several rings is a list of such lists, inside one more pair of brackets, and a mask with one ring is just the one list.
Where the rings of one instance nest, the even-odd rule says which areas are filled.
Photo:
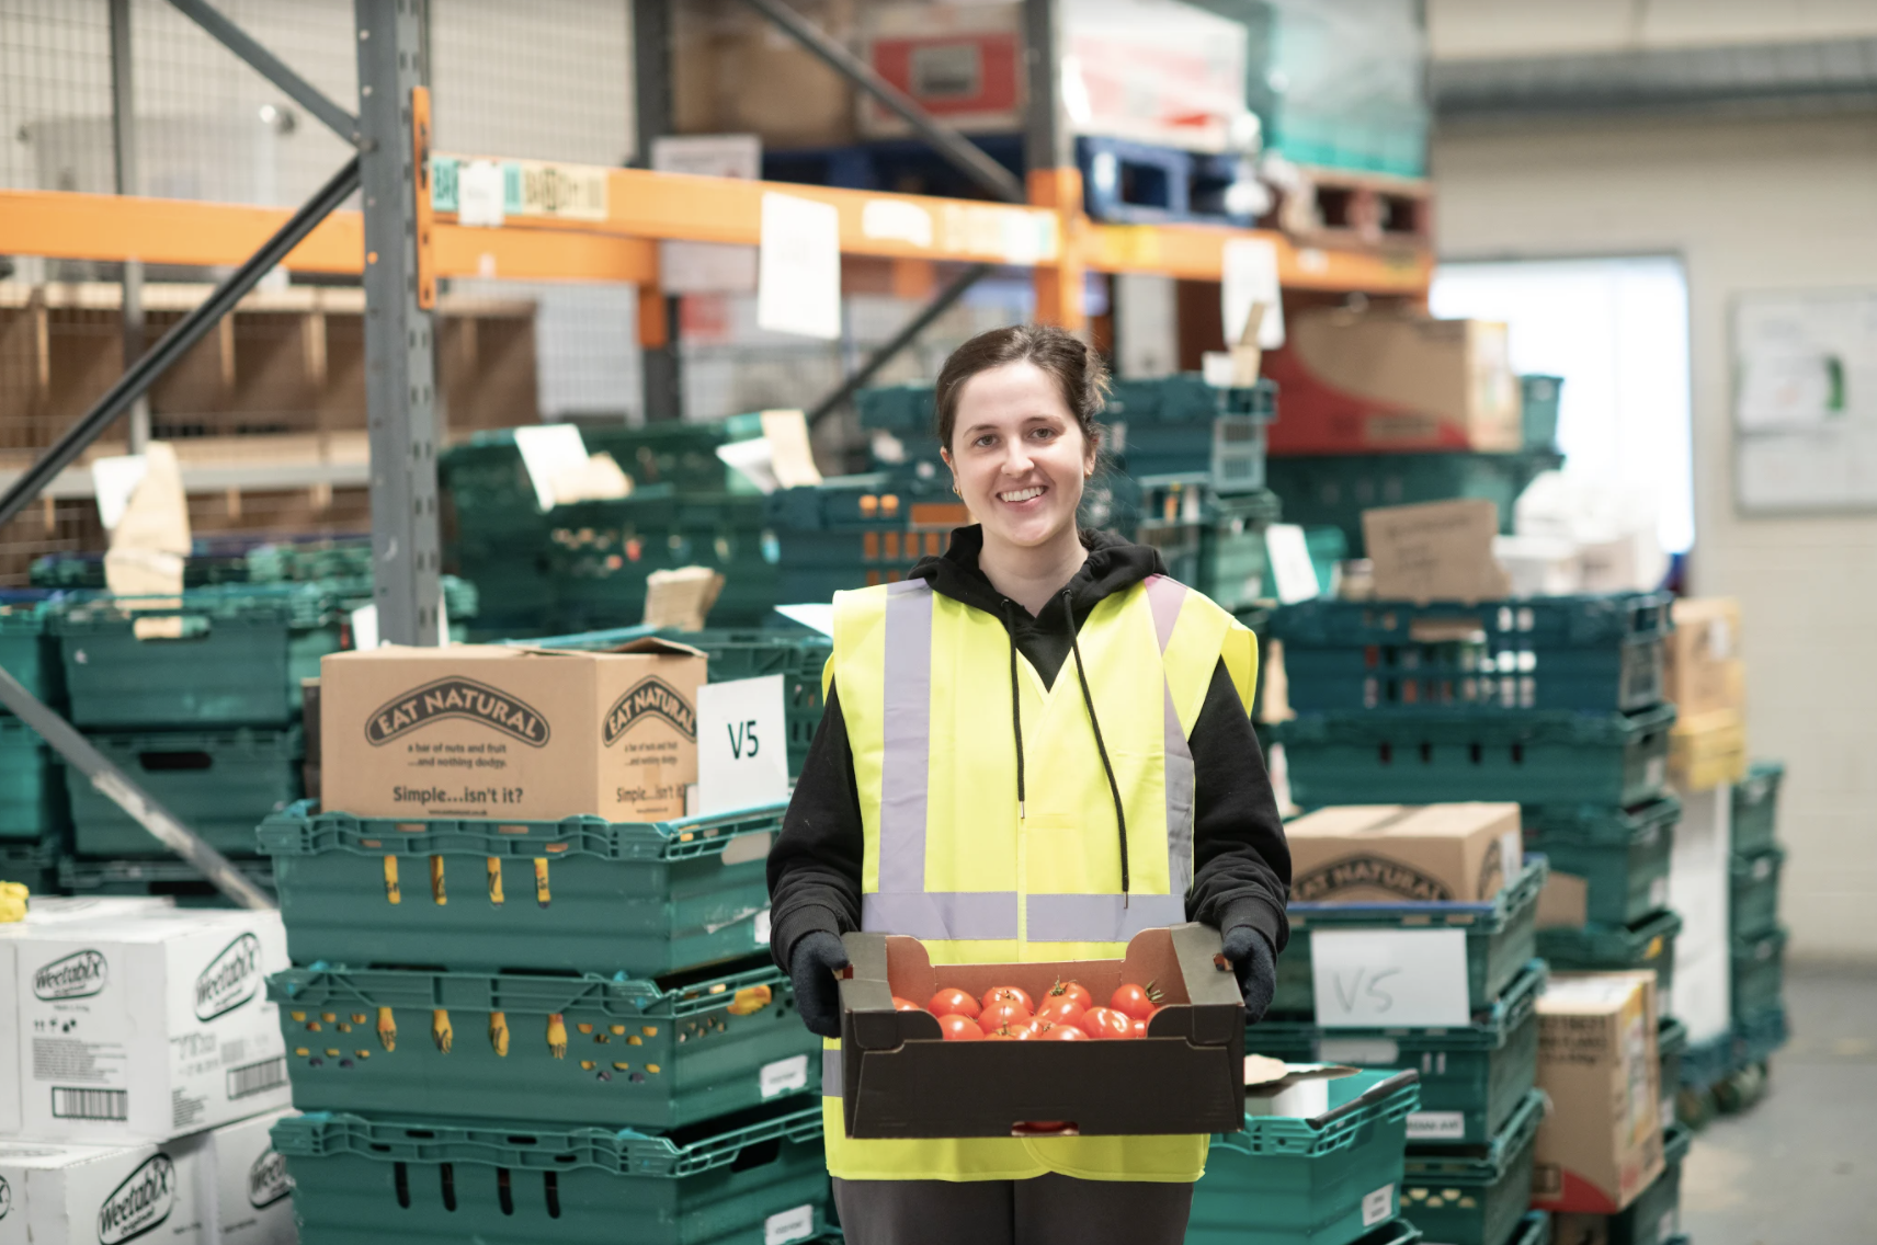
[[1490, 904], [1291, 904], [1291, 936], [1278, 956], [1273, 1018], [1314, 1016], [1310, 932], [1318, 928], [1466, 930], [1468, 1009], [1490, 1009], [1532, 960], [1537, 894], [1545, 889], [1545, 859], [1526, 857], [1524, 872]]

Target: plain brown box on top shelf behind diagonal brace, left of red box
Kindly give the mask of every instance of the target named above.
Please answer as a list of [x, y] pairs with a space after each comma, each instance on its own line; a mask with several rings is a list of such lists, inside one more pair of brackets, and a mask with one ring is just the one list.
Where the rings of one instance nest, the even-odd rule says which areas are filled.
[[[790, 0], [824, 34], [856, 47], [856, 0]], [[771, 146], [854, 141], [854, 88], [740, 0], [672, 6], [678, 133], [753, 133]]]

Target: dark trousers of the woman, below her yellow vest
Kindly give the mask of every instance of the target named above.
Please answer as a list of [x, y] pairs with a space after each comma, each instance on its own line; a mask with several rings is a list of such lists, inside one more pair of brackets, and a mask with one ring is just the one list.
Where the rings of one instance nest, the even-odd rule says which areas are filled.
[[1181, 1245], [1192, 1185], [1132, 1179], [835, 1179], [848, 1245]]

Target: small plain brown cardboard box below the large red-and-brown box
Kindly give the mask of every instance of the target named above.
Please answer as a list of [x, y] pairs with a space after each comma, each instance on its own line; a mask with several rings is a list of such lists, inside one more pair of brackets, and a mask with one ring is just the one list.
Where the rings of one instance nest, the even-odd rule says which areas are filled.
[[1502, 600], [1511, 579], [1492, 555], [1500, 508], [1490, 501], [1432, 501], [1363, 510], [1376, 600]]

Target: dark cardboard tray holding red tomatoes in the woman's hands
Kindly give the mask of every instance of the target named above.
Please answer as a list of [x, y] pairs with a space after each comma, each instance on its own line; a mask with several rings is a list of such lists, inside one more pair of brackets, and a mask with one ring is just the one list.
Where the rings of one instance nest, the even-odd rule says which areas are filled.
[[[841, 1106], [856, 1138], [1139, 1136], [1244, 1127], [1244, 999], [1216, 930], [1143, 930], [1122, 960], [940, 964], [916, 938], [845, 934]], [[1151, 984], [1160, 1009], [1130, 1041], [944, 1041], [938, 1016], [895, 998], [944, 988], [1094, 999]], [[832, 1089], [832, 1088], [830, 1088]]]

